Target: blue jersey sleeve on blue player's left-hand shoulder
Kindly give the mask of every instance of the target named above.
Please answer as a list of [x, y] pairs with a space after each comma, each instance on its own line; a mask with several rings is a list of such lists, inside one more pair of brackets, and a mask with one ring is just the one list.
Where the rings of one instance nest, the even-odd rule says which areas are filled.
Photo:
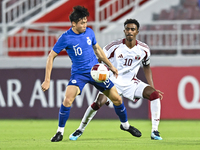
[[53, 51], [56, 53], [60, 53], [64, 48], [67, 47], [67, 37], [65, 35], [65, 33], [63, 33], [59, 39], [57, 40], [56, 44], [53, 47]]

